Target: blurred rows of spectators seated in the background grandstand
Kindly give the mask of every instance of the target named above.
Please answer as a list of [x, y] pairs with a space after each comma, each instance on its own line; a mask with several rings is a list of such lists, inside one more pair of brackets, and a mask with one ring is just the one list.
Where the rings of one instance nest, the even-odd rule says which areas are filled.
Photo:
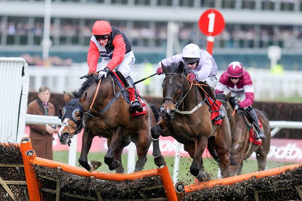
[[[114, 24], [113, 24], [114, 26]], [[196, 26], [196, 25], [195, 25]], [[43, 35], [43, 24], [35, 23], [34, 26], [30, 26], [28, 23], [22, 22], [9, 22], [7, 29], [1, 29], [2, 23], [0, 22], [0, 35], [8, 36], [26, 36], [32, 34], [34, 36]], [[127, 29], [126, 26], [116, 26], [129, 36], [132, 40], [133, 46], [137, 46], [137, 40], [161, 40], [167, 39], [167, 27], [157, 26], [150, 28], [147, 26], [135, 27]], [[79, 24], [63, 23], [60, 26], [51, 24], [50, 29], [51, 37], [91, 37], [91, 26], [79, 26]], [[200, 38], [202, 34], [198, 28], [191, 26], [182, 26], [178, 32], [178, 38], [180, 41], [186, 41], [188, 39]], [[302, 39], [302, 26], [249, 26], [247, 28], [235, 27], [234, 25], [226, 25], [224, 31], [216, 37], [216, 40], [221, 40], [224, 43], [219, 46], [225, 48], [236, 47], [234, 41], [246, 41], [246, 44], [242, 44], [240, 48], [257, 48], [267, 47], [267, 45], [259, 46], [257, 43], [268, 43], [274, 41], [282, 48], [298, 48], [301, 46], [300, 40]], [[64, 45], [64, 42], [57, 45]], [[72, 43], [77, 45], [77, 43]], [[272, 45], [271, 43], [269, 45]]]

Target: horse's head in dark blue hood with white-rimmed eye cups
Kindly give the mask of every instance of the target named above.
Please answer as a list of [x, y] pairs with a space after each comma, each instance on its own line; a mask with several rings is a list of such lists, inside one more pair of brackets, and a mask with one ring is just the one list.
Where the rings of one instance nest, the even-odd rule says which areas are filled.
[[60, 144], [70, 144], [70, 138], [81, 132], [83, 128], [83, 107], [79, 98], [70, 99], [65, 94], [64, 98], [66, 106], [59, 111], [59, 119], [61, 119], [61, 129], [58, 132]]

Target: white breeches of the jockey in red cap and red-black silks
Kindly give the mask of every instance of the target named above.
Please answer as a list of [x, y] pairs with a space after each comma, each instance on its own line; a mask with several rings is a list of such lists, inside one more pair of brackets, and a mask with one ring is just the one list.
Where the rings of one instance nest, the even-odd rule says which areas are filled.
[[[107, 64], [110, 62], [110, 58], [103, 58], [101, 63], [99, 64], [97, 68], [97, 72], [100, 70], [103, 70]], [[120, 64], [118, 64], [114, 70], [118, 70], [122, 73], [122, 75], [126, 78], [130, 75], [131, 67], [135, 63], [135, 57], [133, 54], [133, 51], [131, 50], [127, 54], [125, 54], [124, 59]]]

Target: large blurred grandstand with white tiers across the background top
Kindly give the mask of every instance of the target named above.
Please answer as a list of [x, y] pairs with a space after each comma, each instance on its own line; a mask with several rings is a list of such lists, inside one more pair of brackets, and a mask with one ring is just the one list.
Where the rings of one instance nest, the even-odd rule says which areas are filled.
[[[2, 0], [0, 5], [0, 56], [42, 55], [45, 1]], [[93, 23], [100, 19], [127, 35], [136, 63], [163, 59], [171, 34], [177, 39], [175, 53], [191, 42], [206, 49], [197, 22], [209, 8], [226, 23], [214, 42], [220, 69], [233, 60], [269, 68], [270, 45], [282, 48], [279, 63], [285, 69], [302, 69], [301, 0], [52, 0], [49, 55], [85, 62]]]

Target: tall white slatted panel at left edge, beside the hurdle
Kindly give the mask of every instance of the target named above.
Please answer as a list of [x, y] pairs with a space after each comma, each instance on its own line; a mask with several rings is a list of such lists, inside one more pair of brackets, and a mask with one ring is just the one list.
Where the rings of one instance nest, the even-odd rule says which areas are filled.
[[0, 58], [0, 142], [20, 142], [25, 133], [29, 89], [23, 58]]

